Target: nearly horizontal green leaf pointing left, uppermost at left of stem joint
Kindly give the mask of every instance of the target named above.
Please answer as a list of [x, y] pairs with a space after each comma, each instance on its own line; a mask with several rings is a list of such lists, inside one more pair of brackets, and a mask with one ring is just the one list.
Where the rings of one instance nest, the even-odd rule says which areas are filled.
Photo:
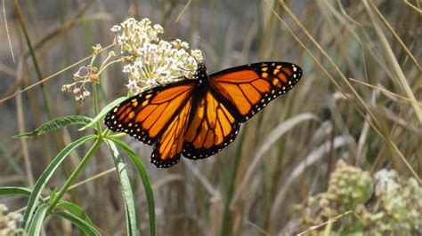
[[49, 122], [45, 122], [36, 130], [32, 130], [30, 132], [26, 132], [23, 134], [18, 134], [18, 135], [13, 136], [12, 138], [34, 138], [46, 132], [57, 130], [65, 126], [74, 125], [74, 124], [87, 124], [89, 122], [91, 122], [91, 118], [86, 117], [84, 115], [64, 116], [57, 119], [53, 119]]

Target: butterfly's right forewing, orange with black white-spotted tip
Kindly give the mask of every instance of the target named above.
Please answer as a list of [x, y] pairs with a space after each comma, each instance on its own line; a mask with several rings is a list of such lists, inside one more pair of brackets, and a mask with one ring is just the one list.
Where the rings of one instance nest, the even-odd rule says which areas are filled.
[[272, 99], [299, 82], [302, 69], [287, 62], [261, 62], [210, 75], [210, 84], [239, 122], [246, 122]]

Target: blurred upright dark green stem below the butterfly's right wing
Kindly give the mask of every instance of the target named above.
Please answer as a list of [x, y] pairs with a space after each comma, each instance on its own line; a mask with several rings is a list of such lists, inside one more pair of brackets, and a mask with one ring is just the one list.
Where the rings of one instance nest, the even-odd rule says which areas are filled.
[[230, 177], [230, 183], [229, 188], [227, 190], [227, 198], [224, 203], [224, 209], [223, 209], [223, 218], [221, 223], [221, 230], [220, 235], [231, 235], [231, 216], [230, 216], [230, 205], [231, 200], [233, 199], [233, 193], [234, 193], [234, 183], [236, 182], [236, 177], [238, 175], [238, 169], [239, 169], [239, 163], [240, 163], [240, 157], [242, 155], [242, 144], [243, 140], [245, 139], [246, 132], [247, 132], [247, 125], [244, 126], [244, 129], [242, 131], [242, 134], [239, 138], [239, 144], [236, 149], [236, 154], [234, 157], [234, 163], [233, 163], [233, 169], [231, 170], [231, 177]]

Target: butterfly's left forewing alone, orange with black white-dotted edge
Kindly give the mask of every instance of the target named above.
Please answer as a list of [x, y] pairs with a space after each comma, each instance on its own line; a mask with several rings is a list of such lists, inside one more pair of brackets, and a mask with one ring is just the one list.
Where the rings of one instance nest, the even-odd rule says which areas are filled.
[[185, 80], [142, 92], [113, 108], [105, 124], [110, 130], [152, 145], [191, 99], [194, 87], [192, 80]]

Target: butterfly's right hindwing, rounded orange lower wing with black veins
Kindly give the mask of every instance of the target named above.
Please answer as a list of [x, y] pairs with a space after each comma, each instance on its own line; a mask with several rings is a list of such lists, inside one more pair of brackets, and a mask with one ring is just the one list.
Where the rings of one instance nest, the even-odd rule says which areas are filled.
[[228, 146], [239, 132], [239, 122], [212, 91], [201, 95], [184, 137], [183, 156], [207, 158]]

